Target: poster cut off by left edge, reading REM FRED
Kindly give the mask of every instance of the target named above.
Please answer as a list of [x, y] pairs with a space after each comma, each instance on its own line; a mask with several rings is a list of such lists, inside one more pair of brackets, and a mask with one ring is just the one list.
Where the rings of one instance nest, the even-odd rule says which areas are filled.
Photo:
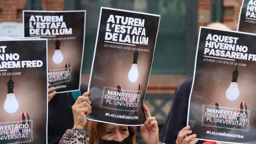
[[0, 143], [47, 143], [47, 39], [0, 38]]

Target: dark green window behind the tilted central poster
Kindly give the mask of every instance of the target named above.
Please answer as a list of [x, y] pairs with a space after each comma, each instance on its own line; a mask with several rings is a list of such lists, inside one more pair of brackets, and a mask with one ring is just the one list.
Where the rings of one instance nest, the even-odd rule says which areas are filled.
[[151, 74], [186, 74], [185, 0], [80, 0], [64, 4], [64, 10], [86, 10], [83, 74], [91, 71], [101, 6], [161, 15]]

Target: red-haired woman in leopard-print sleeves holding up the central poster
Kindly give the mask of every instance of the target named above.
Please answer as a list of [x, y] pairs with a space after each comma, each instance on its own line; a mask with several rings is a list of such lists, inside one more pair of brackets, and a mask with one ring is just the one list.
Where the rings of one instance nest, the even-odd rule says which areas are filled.
[[[79, 97], [72, 107], [74, 127], [63, 135], [62, 143], [136, 143], [135, 127], [90, 121], [87, 130], [84, 129], [86, 117], [92, 113], [91, 101], [87, 97], [90, 92]], [[147, 119], [140, 127], [141, 137], [145, 143], [159, 143], [159, 129], [155, 117], [143, 106]], [[91, 135], [91, 136], [90, 136]], [[90, 141], [89, 141], [90, 137]]]

